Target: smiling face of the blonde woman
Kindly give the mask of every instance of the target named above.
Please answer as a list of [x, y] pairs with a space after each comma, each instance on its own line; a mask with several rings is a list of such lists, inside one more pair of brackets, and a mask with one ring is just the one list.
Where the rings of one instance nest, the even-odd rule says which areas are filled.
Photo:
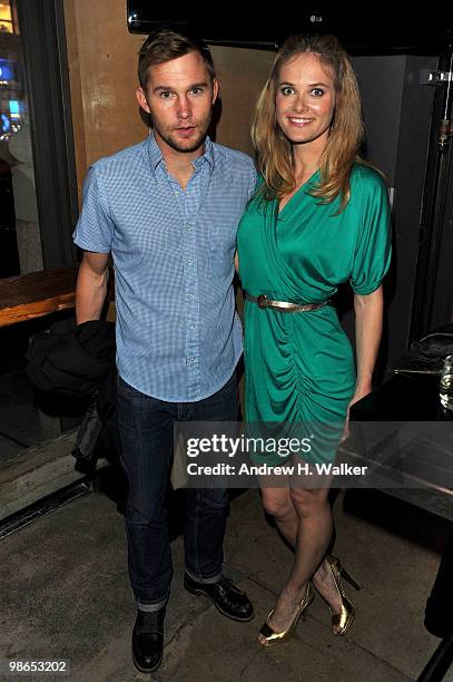
[[293, 57], [280, 68], [276, 115], [279, 127], [295, 145], [311, 145], [322, 153], [335, 109], [332, 70], [311, 52]]

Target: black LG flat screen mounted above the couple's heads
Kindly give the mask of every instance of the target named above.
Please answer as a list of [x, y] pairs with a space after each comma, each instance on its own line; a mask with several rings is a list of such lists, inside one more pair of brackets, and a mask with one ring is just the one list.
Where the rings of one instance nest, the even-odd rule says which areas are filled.
[[[408, 12], [408, 9], [407, 9]], [[128, 0], [127, 25], [130, 32], [150, 33], [161, 26], [188, 31], [209, 43], [276, 49], [283, 40], [298, 32], [335, 35], [352, 53], [437, 53], [452, 38], [452, 18], [445, 12], [402, 12], [361, 4], [356, 10], [304, 7], [290, 12], [266, 12], [240, 17], [225, 6], [220, 12], [179, 13], [159, 11], [149, 0]], [[232, 18], [233, 17], [233, 18]]]

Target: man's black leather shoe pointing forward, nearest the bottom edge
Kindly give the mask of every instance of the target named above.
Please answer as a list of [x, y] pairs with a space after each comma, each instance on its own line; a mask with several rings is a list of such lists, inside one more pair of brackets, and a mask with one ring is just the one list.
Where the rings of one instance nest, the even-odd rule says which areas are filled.
[[163, 661], [165, 606], [138, 611], [132, 631], [132, 659], [140, 672], [154, 672]]

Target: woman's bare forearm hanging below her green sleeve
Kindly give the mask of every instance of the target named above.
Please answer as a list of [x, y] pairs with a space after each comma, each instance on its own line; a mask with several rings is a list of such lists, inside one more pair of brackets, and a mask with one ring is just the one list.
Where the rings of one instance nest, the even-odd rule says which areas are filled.
[[382, 285], [367, 295], [354, 294], [357, 381], [349, 406], [372, 390], [373, 371], [382, 335], [383, 304]]

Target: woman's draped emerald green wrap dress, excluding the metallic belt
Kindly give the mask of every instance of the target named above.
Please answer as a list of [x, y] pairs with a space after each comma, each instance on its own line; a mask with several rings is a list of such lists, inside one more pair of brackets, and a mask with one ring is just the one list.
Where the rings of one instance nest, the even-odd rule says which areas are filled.
[[[374, 169], [355, 164], [351, 198], [322, 204], [309, 194], [315, 173], [278, 213], [278, 202], [259, 193], [242, 218], [237, 235], [244, 291], [294, 303], [331, 299], [338, 284], [375, 291], [390, 264], [391, 230], [387, 189]], [[245, 417], [248, 423], [343, 425], [355, 388], [352, 347], [336, 310], [283, 312], [245, 304]], [[336, 438], [324, 439], [303, 455], [306, 461], [332, 461]], [[313, 444], [315, 439], [313, 439]], [[328, 442], [328, 445], [327, 445]], [[256, 461], [274, 465], [279, 456]]]

